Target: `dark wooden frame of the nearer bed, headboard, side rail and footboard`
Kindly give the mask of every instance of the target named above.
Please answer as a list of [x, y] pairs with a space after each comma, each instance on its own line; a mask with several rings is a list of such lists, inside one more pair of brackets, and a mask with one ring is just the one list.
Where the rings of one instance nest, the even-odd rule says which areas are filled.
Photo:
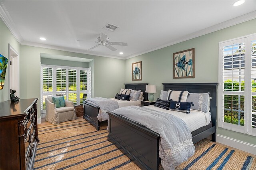
[[[212, 136], [216, 142], [216, 106], [218, 83], [162, 83], [163, 90], [188, 91], [190, 93], [210, 93], [210, 112], [212, 121], [209, 125], [193, 132], [192, 141], [196, 142]], [[112, 112], [109, 115], [108, 140], [116, 145], [126, 156], [142, 169], [158, 170], [160, 135], [134, 121]], [[138, 113], [139, 114], [139, 113]]]

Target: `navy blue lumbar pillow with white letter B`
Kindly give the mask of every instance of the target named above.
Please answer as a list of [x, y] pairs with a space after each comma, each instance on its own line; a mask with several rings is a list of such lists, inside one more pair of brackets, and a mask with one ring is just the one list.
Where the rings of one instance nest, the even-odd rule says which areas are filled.
[[183, 112], [183, 113], [190, 113], [191, 106], [194, 106], [193, 102], [178, 102], [170, 99], [169, 110]]

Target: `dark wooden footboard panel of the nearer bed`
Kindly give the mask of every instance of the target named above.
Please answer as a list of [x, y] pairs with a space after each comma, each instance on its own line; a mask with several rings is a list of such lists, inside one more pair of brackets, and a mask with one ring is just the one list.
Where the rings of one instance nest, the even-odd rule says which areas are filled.
[[158, 170], [160, 135], [115, 113], [107, 113], [108, 140], [140, 168]]

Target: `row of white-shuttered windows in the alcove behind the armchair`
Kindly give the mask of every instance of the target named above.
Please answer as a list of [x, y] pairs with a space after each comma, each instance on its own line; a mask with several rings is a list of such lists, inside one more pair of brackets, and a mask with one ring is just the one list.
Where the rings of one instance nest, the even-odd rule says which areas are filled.
[[91, 88], [88, 89], [91, 84], [88, 70], [91, 68], [41, 65], [42, 113], [45, 112], [45, 98], [50, 96], [64, 96], [73, 101], [74, 105], [82, 105], [88, 98], [88, 93], [91, 94]]

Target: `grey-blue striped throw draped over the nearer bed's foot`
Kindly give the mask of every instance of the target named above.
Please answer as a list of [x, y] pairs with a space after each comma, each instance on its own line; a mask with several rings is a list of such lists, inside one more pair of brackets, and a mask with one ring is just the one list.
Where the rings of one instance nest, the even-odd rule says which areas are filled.
[[174, 170], [195, 152], [191, 132], [180, 118], [138, 106], [121, 107], [113, 113], [160, 134], [159, 157], [164, 170]]

